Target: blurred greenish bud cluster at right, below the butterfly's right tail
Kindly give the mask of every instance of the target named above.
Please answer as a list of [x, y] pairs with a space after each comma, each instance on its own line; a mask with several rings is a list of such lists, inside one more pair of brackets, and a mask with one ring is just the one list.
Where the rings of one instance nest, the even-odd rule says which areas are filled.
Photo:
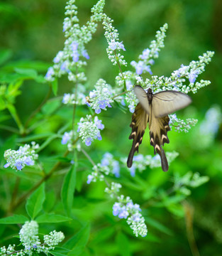
[[192, 171], [187, 172], [184, 176], [174, 175], [174, 191], [189, 196], [191, 191], [187, 187], [196, 188], [209, 181], [209, 176], [200, 176], [199, 173], [193, 174]]

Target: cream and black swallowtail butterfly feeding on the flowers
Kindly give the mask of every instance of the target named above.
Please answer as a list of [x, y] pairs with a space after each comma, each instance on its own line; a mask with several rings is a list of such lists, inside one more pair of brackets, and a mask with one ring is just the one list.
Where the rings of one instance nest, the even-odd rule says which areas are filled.
[[192, 100], [188, 95], [174, 90], [153, 94], [150, 88], [145, 92], [143, 87], [135, 85], [133, 91], [139, 103], [135, 107], [130, 125], [132, 132], [129, 139], [133, 139], [133, 145], [128, 155], [127, 166], [128, 168], [132, 166], [134, 153], [138, 152], [143, 134], [149, 124], [150, 145], [154, 147], [154, 154], [160, 155], [162, 171], [168, 171], [167, 157], [162, 149], [165, 143], [170, 143], [167, 136], [167, 132], [170, 131], [168, 114], [187, 107]]

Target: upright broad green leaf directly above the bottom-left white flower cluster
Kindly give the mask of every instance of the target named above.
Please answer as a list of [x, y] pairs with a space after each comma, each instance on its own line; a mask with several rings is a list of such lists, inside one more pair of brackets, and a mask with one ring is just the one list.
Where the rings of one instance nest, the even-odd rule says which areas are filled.
[[43, 209], [44, 201], [45, 183], [43, 183], [35, 192], [31, 194], [26, 203], [26, 211], [32, 220], [38, 215], [38, 213], [40, 213], [40, 210]]

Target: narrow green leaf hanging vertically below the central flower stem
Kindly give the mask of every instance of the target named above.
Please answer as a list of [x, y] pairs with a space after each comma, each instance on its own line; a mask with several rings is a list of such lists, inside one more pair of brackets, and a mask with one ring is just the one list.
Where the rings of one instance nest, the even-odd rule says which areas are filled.
[[72, 164], [70, 171], [66, 174], [64, 178], [61, 191], [62, 204], [68, 216], [70, 216], [72, 209], [75, 184], [76, 164]]

